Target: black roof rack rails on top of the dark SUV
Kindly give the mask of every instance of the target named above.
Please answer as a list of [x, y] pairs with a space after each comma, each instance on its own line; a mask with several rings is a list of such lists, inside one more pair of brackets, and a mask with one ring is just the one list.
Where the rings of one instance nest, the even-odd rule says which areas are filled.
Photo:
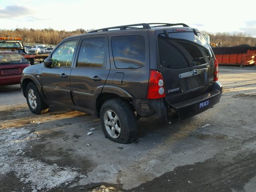
[[[156, 25], [156, 26], [150, 26], [150, 25]], [[154, 27], [169, 27], [169, 26], [177, 26], [182, 25], [184, 27], [189, 27], [188, 25], [184, 23], [139, 23], [139, 24], [132, 24], [132, 25], [123, 25], [123, 26], [115, 26], [115, 27], [108, 27], [108, 28], [102, 28], [97, 30], [92, 30], [88, 33], [94, 33], [94, 32], [103, 32], [103, 31], [111, 31], [111, 30], [126, 30], [126, 29], [151, 29]]]

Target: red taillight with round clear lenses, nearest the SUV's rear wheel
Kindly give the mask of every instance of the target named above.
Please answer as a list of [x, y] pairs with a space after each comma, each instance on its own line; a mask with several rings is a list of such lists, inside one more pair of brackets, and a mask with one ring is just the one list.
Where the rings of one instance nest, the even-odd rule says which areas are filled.
[[157, 70], [150, 70], [148, 82], [148, 99], [159, 99], [165, 97], [164, 79]]

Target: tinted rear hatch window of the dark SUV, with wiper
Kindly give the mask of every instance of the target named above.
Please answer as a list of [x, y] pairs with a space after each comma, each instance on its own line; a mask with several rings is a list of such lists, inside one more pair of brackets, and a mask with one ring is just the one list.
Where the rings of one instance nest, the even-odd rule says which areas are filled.
[[167, 68], [186, 68], [206, 64], [212, 52], [204, 36], [194, 32], [168, 33], [158, 35], [158, 49], [161, 65]]

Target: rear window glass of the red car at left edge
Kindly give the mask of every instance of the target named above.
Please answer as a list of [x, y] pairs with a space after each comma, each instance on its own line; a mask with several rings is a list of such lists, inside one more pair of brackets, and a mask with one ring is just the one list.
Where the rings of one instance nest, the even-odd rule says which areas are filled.
[[5, 64], [25, 64], [28, 61], [18, 53], [14, 54], [0, 54], [0, 65]]

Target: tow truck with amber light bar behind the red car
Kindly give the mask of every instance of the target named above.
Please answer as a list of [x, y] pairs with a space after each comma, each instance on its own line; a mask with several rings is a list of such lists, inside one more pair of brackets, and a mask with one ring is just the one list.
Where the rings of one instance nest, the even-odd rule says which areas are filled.
[[30, 65], [42, 63], [49, 56], [49, 54], [26, 54], [22, 38], [0, 37], [0, 50], [20, 53]]

